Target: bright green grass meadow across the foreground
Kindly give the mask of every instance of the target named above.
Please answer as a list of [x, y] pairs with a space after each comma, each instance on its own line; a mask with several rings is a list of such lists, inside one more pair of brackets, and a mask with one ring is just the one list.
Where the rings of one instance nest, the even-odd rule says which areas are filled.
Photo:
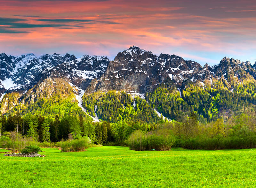
[[256, 149], [43, 150], [45, 158], [1, 154], [0, 187], [256, 187]]

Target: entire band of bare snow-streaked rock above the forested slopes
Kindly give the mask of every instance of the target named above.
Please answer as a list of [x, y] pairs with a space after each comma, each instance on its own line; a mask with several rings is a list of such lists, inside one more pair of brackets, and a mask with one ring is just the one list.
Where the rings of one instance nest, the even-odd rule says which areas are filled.
[[[106, 56], [45, 54], [37, 58], [33, 53], [21, 56], [7, 56], [0, 54], [0, 79], [3, 94], [6, 90], [22, 91], [32, 88], [39, 80], [47, 77], [66, 77], [71, 83], [86, 89], [93, 79], [100, 79], [94, 87], [88, 90], [108, 91], [110, 89], [139, 91], [143, 93], [143, 86], [162, 83], [167, 77], [180, 87], [182, 81], [204, 81], [213, 78], [228, 79], [228, 69], [234, 77], [239, 77], [239, 69], [248, 72], [256, 78], [255, 64], [249, 61], [241, 62], [233, 58], [224, 57], [219, 64], [205, 64], [202, 67], [192, 60], [184, 60], [180, 56], [161, 53], [156, 56], [151, 51], [131, 46], [119, 52], [113, 61]], [[130, 72], [129, 72], [130, 71]], [[131, 75], [132, 74], [132, 75]], [[123, 78], [121, 78], [123, 77]], [[122, 81], [108, 81], [121, 79]], [[137, 80], [137, 83], [134, 83]], [[121, 84], [120, 84], [121, 83]], [[127, 84], [128, 83], [128, 84]], [[112, 85], [112, 86], [111, 86]], [[89, 86], [90, 87], [90, 86]], [[112, 87], [112, 88], [111, 88]], [[127, 88], [127, 89], [125, 89]]]

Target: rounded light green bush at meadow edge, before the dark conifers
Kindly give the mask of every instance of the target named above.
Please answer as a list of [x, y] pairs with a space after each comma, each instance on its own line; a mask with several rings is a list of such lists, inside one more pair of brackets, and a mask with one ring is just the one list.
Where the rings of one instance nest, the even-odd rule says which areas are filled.
[[64, 142], [58, 142], [56, 146], [60, 146], [63, 152], [73, 152], [73, 151], [85, 151], [86, 148], [92, 143], [91, 139], [88, 137], [82, 137], [77, 140], [67, 140]]

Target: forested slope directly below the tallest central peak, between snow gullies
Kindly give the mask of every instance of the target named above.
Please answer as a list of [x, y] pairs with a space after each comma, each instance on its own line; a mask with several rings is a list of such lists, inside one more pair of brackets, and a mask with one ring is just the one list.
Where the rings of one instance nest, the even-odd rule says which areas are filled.
[[83, 106], [89, 115], [95, 117], [94, 110], [97, 105], [96, 114], [104, 121], [116, 123], [122, 120], [142, 121], [157, 123], [160, 119], [148, 102], [140, 97], [135, 97], [135, 107], [130, 94], [124, 91], [109, 91], [108, 93], [93, 93], [84, 95]]

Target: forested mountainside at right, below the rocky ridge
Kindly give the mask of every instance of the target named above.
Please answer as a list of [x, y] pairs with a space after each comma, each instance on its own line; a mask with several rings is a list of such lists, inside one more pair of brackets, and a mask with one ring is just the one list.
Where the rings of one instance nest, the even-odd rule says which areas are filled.
[[209, 122], [217, 120], [226, 111], [238, 115], [245, 108], [253, 108], [256, 104], [256, 82], [244, 81], [231, 92], [222, 79], [212, 80], [212, 86], [186, 81], [181, 87], [181, 96], [172, 81], [167, 79], [152, 93], [146, 94], [146, 99], [169, 119], [179, 120], [194, 112], [201, 122]]

